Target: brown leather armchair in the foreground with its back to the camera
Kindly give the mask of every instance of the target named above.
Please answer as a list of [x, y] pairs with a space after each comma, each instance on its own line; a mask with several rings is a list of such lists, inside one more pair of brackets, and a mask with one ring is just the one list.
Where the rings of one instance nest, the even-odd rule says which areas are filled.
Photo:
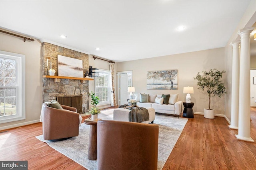
[[98, 170], [157, 170], [158, 125], [100, 120]]

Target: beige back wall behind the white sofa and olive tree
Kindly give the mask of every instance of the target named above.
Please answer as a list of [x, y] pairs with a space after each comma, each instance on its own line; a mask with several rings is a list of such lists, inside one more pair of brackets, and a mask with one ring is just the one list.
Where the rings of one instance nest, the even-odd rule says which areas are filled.
[[[164, 57], [154, 57], [135, 61], [120, 62], [117, 71], [133, 71], [133, 86], [135, 93], [146, 94], [179, 94], [179, 100], [185, 101], [184, 86], [193, 86], [194, 94], [191, 94], [195, 112], [204, 112], [208, 106], [208, 96], [197, 89], [193, 77], [198, 72], [217, 68], [224, 70], [224, 48], [196, 51]], [[178, 90], [147, 90], [147, 71], [178, 69]], [[216, 114], [224, 114], [224, 98], [215, 97], [212, 100], [212, 108]]]

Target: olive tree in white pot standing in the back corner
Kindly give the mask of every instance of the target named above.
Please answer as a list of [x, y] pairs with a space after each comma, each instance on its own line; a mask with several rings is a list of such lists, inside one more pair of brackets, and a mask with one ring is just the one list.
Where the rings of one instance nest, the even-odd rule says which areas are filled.
[[211, 109], [211, 97], [221, 97], [227, 94], [224, 81], [221, 80], [222, 74], [226, 71], [218, 71], [216, 68], [210, 71], [198, 72], [195, 80], [197, 80], [198, 89], [206, 91], [209, 98], [208, 108], [204, 109], [204, 117], [214, 119], [214, 109]]

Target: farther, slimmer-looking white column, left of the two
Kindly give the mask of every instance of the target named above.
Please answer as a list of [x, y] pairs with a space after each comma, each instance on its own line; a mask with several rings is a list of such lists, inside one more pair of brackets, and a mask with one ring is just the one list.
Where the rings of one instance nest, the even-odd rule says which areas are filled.
[[238, 129], [238, 103], [239, 103], [239, 64], [240, 64], [240, 41], [230, 43], [233, 48], [232, 53], [232, 92], [231, 92], [231, 125], [230, 129]]

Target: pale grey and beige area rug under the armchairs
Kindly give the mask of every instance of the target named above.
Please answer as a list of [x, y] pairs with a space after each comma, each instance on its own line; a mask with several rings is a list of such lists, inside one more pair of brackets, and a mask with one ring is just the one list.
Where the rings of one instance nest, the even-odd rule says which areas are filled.
[[[114, 109], [103, 110], [98, 115], [98, 118], [113, 120], [113, 111]], [[158, 170], [162, 170], [187, 121], [188, 119], [186, 118], [178, 119], [178, 117], [156, 115], [154, 123], [159, 125]], [[42, 135], [37, 136], [36, 138], [47, 143], [53, 149], [64, 154], [88, 170], [97, 170], [97, 160], [87, 159], [90, 125], [82, 123], [82, 126], [79, 129], [78, 137], [72, 137], [65, 141], [45, 141]]]

